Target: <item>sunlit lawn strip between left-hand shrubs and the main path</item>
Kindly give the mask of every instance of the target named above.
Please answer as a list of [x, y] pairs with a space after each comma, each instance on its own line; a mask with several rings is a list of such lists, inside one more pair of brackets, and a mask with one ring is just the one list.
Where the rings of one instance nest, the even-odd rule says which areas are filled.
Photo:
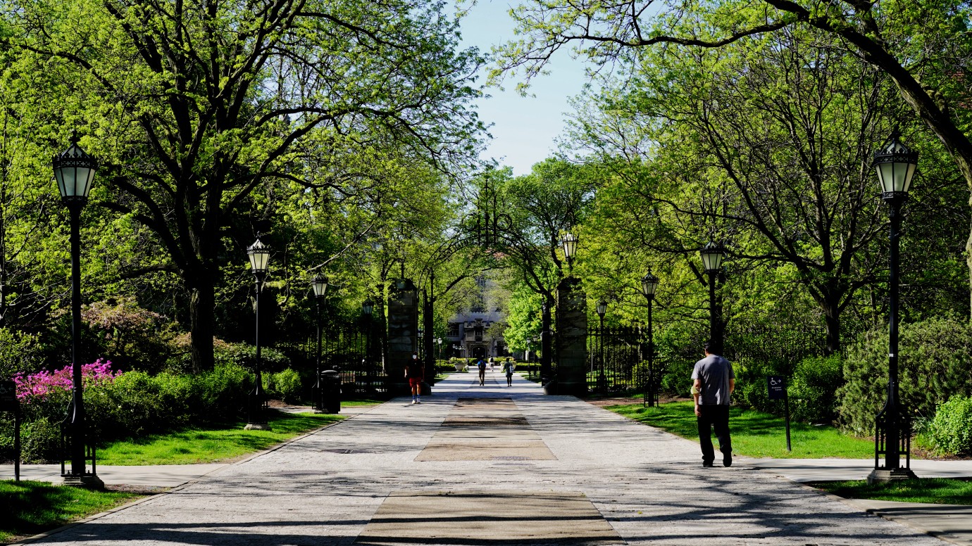
[[98, 464], [193, 464], [229, 461], [256, 453], [344, 417], [270, 412], [272, 430], [244, 430], [245, 423], [188, 427], [166, 434], [113, 442], [98, 450]]

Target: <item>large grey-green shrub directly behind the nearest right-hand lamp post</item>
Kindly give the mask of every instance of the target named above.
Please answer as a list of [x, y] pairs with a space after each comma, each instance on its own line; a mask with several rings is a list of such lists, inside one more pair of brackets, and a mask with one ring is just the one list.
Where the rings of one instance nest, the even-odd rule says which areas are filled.
[[[972, 394], [972, 325], [942, 317], [901, 324], [898, 340], [899, 397], [914, 418], [930, 416], [954, 394]], [[870, 332], [848, 347], [845, 384], [837, 392], [841, 427], [874, 434], [874, 418], [887, 392], [887, 332]]]

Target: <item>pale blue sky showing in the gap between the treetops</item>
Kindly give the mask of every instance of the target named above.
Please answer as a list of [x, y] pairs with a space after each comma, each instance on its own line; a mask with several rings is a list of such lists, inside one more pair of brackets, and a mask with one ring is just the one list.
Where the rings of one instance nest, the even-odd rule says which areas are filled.
[[[496, 44], [512, 39], [513, 20], [507, 15], [505, 0], [479, 0], [463, 20], [463, 45], [490, 51]], [[484, 158], [494, 157], [524, 175], [530, 167], [556, 149], [554, 140], [564, 132], [564, 114], [570, 111], [568, 99], [579, 94], [586, 82], [584, 66], [566, 51], [549, 65], [550, 74], [536, 78], [531, 96], [516, 91], [519, 79], [507, 78], [503, 89], [490, 87], [489, 98], [478, 101], [479, 117], [493, 126], [493, 141]]]

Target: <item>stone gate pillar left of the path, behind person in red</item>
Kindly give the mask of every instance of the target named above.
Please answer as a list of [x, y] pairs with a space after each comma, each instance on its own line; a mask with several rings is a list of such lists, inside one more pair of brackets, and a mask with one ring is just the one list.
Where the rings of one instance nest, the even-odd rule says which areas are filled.
[[388, 294], [388, 387], [393, 394], [411, 392], [405, 379], [405, 365], [418, 351], [418, 290], [410, 279], [399, 279]]

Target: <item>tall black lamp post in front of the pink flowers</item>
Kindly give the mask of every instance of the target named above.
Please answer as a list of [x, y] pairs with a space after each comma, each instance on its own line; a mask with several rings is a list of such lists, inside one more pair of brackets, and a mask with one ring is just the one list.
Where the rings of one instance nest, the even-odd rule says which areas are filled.
[[[61, 200], [71, 217], [71, 407], [68, 423], [71, 430], [71, 470], [62, 472], [65, 484], [101, 488], [104, 483], [94, 471], [86, 468], [87, 424], [82, 385], [81, 338], [81, 210], [87, 204], [98, 162], [78, 146], [78, 133], [71, 135], [71, 146], [53, 156], [54, 179]], [[63, 456], [62, 456], [63, 457]], [[63, 465], [62, 465], [63, 469]]]

